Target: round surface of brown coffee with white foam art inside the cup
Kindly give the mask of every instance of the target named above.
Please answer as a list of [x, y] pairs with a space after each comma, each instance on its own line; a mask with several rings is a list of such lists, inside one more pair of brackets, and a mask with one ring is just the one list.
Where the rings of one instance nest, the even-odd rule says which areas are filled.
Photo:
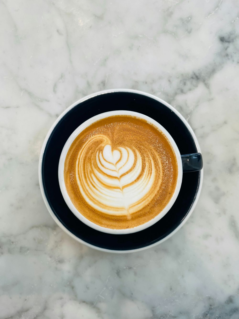
[[154, 125], [134, 116], [110, 116], [73, 141], [64, 181], [72, 203], [87, 219], [107, 228], [131, 228], [168, 204], [176, 188], [177, 159]]

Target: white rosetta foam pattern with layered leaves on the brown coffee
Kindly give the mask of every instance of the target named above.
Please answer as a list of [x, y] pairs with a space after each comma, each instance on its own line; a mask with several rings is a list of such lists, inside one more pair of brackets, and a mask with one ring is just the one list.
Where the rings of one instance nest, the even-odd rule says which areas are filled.
[[75, 173], [84, 200], [97, 211], [111, 215], [130, 215], [145, 207], [162, 180], [156, 152], [153, 159], [147, 149], [139, 152], [134, 146], [124, 145], [112, 149], [110, 139], [103, 134], [85, 142], [78, 153]]

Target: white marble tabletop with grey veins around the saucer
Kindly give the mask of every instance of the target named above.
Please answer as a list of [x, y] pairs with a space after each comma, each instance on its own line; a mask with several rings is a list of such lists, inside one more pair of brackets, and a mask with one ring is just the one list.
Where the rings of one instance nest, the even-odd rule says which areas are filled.
[[[238, 319], [238, 1], [0, 0], [0, 43], [0, 319]], [[125, 255], [65, 234], [38, 182], [57, 116], [110, 88], [169, 102], [204, 157], [185, 226]]]

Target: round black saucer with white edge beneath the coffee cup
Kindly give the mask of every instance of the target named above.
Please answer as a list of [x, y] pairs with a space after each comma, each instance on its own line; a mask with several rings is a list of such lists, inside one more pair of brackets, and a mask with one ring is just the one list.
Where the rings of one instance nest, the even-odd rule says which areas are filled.
[[92, 248], [111, 252], [146, 249], [165, 241], [183, 226], [198, 200], [203, 170], [183, 174], [179, 195], [170, 211], [156, 224], [133, 234], [107, 234], [81, 222], [65, 203], [58, 182], [62, 148], [71, 133], [94, 115], [129, 110], [155, 119], [173, 137], [181, 154], [200, 152], [195, 134], [186, 120], [169, 104], [135, 90], [107, 90], [91, 94], [70, 106], [51, 127], [43, 143], [39, 162], [42, 197], [56, 223], [71, 237]]

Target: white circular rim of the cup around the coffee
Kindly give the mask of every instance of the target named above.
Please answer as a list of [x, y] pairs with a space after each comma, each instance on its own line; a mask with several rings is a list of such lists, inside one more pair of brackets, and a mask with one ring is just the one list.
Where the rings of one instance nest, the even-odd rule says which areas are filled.
[[[174, 191], [169, 203], [153, 219], [150, 219], [148, 222], [146, 222], [142, 225], [135, 226], [133, 228], [127, 228], [127, 229], [106, 228], [103, 226], [99, 226], [99, 225], [91, 222], [86, 217], [84, 217], [76, 209], [74, 204], [71, 202], [70, 197], [69, 197], [67, 190], [66, 190], [65, 182], [64, 182], [64, 163], [65, 163], [67, 152], [68, 152], [71, 144], [75, 140], [75, 138], [80, 134], [80, 132], [82, 132], [86, 127], [88, 127], [92, 123], [94, 123], [100, 119], [107, 118], [109, 116], [114, 116], [114, 115], [136, 116], [136, 117], [145, 119], [149, 123], [152, 123], [153, 125], [155, 125], [167, 137], [173, 151], [175, 152], [176, 159], [177, 159], [177, 167], [178, 167], [176, 188], [175, 188], [175, 191]], [[170, 208], [174, 204], [175, 200], [177, 199], [177, 196], [178, 196], [180, 188], [181, 188], [182, 177], [183, 177], [183, 169], [182, 169], [181, 155], [180, 155], [180, 152], [178, 150], [177, 144], [175, 143], [175, 141], [173, 140], [173, 138], [171, 137], [169, 132], [161, 124], [159, 124], [158, 122], [156, 122], [154, 119], [150, 118], [149, 116], [138, 113], [138, 112], [125, 111], [125, 110], [104, 112], [104, 113], [101, 113], [101, 114], [98, 114], [98, 115], [91, 117], [90, 119], [88, 119], [87, 121], [85, 121], [81, 125], [79, 125], [76, 128], [76, 130], [74, 130], [74, 132], [69, 136], [68, 140], [66, 141], [66, 143], [62, 149], [62, 153], [61, 153], [60, 160], [59, 160], [59, 166], [58, 166], [58, 180], [59, 180], [60, 189], [62, 192], [62, 196], [63, 196], [67, 206], [69, 207], [70, 211], [72, 211], [72, 213], [87, 226], [90, 226], [93, 229], [96, 229], [98, 231], [101, 231], [103, 233], [108, 233], [108, 234], [132, 234], [132, 233], [141, 231], [143, 229], [146, 229], [146, 228], [154, 225], [157, 221], [159, 221], [161, 218], [163, 218], [163, 216], [166, 215], [166, 213], [170, 210]]]

